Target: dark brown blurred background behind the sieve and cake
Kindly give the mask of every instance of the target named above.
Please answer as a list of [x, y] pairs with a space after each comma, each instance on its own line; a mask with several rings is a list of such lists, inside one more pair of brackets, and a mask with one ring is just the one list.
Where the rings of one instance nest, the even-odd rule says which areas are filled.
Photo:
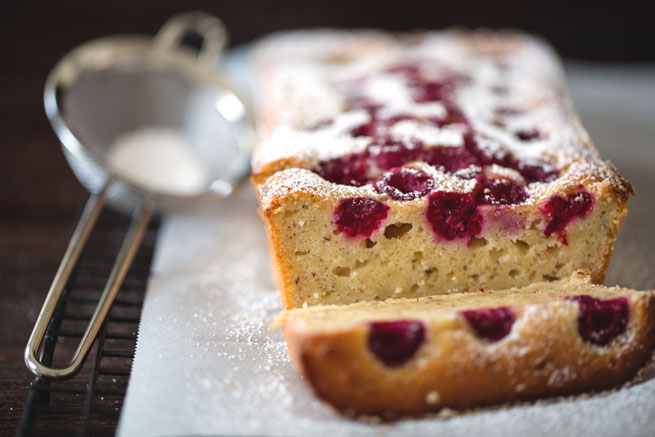
[[[233, 43], [279, 29], [515, 27], [567, 59], [655, 61], [653, 15], [637, 2], [43, 1], [0, 8], [0, 432], [13, 433], [31, 375], [22, 350], [85, 198], [45, 118], [43, 83], [67, 51], [115, 33], [154, 34], [175, 12], [224, 20]], [[648, 4], [644, 2], [644, 4]]]

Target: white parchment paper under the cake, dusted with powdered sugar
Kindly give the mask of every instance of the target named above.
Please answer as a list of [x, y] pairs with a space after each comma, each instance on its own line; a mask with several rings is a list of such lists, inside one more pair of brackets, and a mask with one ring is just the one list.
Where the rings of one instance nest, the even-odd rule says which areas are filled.
[[[638, 190], [607, 283], [655, 288], [655, 69], [577, 66], [570, 84], [604, 156]], [[118, 433], [170, 435], [655, 435], [655, 379], [585, 399], [495, 408], [450, 419], [365, 424], [319, 403], [279, 330], [254, 191], [166, 219], [143, 308]]]

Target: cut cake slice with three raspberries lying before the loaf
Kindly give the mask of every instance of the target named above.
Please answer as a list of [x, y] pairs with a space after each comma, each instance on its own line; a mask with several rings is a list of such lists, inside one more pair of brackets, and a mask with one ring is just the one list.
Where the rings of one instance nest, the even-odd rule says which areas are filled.
[[588, 272], [522, 289], [286, 311], [296, 367], [349, 415], [393, 418], [613, 387], [655, 346], [655, 292]]

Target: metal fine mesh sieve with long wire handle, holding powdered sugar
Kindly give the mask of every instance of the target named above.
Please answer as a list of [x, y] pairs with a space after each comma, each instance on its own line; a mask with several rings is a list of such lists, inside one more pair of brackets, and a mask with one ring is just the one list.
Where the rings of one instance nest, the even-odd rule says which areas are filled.
[[[200, 48], [185, 46], [187, 39]], [[219, 73], [226, 43], [220, 20], [184, 13], [154, 38], [114, 36], [83, 44], [48, 76], [46, 113], [91, 195], [25, 350], [35, 374], [57, 379], [79, 370], [153, 214], [228, 196], [247, 173], [254, 124]], [[181, 172], [186, 161], [193, 165]], [[70, 364], [45, 366], [37, 359], [45, 329], [105, 203], [132, 211], [130, 227]]]

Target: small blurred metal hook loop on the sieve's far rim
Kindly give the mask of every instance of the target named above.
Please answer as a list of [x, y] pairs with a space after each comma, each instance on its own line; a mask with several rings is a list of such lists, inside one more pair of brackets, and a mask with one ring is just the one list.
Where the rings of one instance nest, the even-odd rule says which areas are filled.
[[228, 34], [223, 22], [213, 15], [200, 11], [174, 15], [161, 27], [154, 43], [163, 50], [175, 50], [189, 32], [202, 38], [198, 59], [215, 67], [227, 47]]

